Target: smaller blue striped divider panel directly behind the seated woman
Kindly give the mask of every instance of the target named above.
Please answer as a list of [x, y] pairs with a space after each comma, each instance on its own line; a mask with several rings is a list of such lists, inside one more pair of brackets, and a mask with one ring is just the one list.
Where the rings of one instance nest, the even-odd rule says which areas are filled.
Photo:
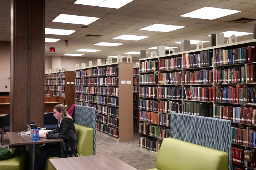
[[74, 123], [93, 128], [93, 154], [96, 155], [96, 108], [76, 105], [72, 117]]

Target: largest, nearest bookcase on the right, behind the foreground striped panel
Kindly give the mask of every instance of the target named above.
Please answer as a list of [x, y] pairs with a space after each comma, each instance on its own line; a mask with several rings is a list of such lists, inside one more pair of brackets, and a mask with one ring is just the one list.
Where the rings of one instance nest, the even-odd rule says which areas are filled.
[[[171, 112], [182, 113], [183, 111], [185, 111], [185, 113], [187, 114], [189, 113], [193, 115], [199, 114], [201, 116], [209, 116], [217, 119], [228, 119], [232, 121], [232, 126], [236, 126], [237, 129], [243, 126], [248, 126], [249, 128], [250, 127], [256, 128], [256, 125], [255, 125], [256, 123], [255, 124], [251, 124], [250, 122], [241, 123], [238, 120], [237, 121], [233, 120], [233, 116], [234, 116], [234, 119], [238, 119], [237, 118], [238, 112], [236, 112], [236, 110], [234, 110], [233, 108], [232, 110], [224, 109], [225, 107], [227, 108], [227, 106], [239, 107], [239, 108], [253, 107], [254, 110], [256, 109], [255, 99], [253, 103], [250, 103], [250, 97], [248, 97], [250, 95], [249, 88], [253, 88], [254, 96], [256, 94], [254, 93], [255, 92], [254, 90], [256, 90], [256, 86], [255, 86], [256, 77], [254, 77], [254, 75], [256, 76], [256, 73], [255, 73], [256, 55], [255, 54], [253, 55], [253, 53], [256, 53], [256, 51], [254, 51], [254, 49], [252, 49], [252, 51], [250, 52], [246, 51], [246, 49], [249, 46], [255, 47], [256, 40], [253, 39], [253, 40], [247, 40], [242, 42], [235, 42], [232, 44], [224, 44], [224, 45], [213, 46], [209, 48], [195, 49], [190, 51], [173, 53], [169, 55], [161, 55], [156, 57], [139, 59], [139, 62], [140, 62], [139, 63], [140, 64], [139, 66], [139, 100], [140, 100], [139, 101], [139, 150], [154, 156], [158, 154], [158, 150], [161, 146], [162, 140], [165, 137], [168, 137], [168, 135], [166, 136], [166, 134], [168, 134], [170, 131], [170, 127], [171, 127], [170, 113]], [[247, 48], [245, 49], [245, 51], [243, 51], [243, 53], [241, 51], [238, 51], [238, 52], [236, 51], [236, 49], [241, 50], [241, 48], [244, 48], [244, 47], [247, 47]], [[234, 51], [233, 50], [230, 51], [230, 49], [233, 49]], [[211, 53], [208, 54], [205, 52], [204, 54], [203, 51], [207, 51], [207, 52], [212, 51], [212, 56], [211, 56]], [[223, 53], [223, 51], [225, 53]], [[228, 55], [229, 51], [231, 52], [230, 54], [232, 54], [231, 61], [229, 60], [229, 55]], [[195, 54], [197, 55], [200, 54], [201, 57], [205, 55], [206, 58], [199, 58], [202, 65], [200, 64], [200, 66], [198, 67], [197, 65], [198, 59], [193, 60], [194, 58], [189, 58], [188, 57], [189, 54], [193, 55], [193, 57], [196, 56]], [[238, 54], [237, 60], [236, 60], [235, 54]], [[249, 59], [250, 62], [248, 62], [247, 61], [248, 58], [246, 58], [246, 56], [248, 55], [249, 57], [251, 57]], [[207, 58], [208, 56], [209, 58]], [[165, 62], [167, 62], [167, 61], [164, 61], [164, 59], [171, 60], [170, 67], [168, 64], [167, 65], [164, 64]], [[191, 65], [189, 65], [190, 63]], [[161, 65], [156, 69], [156, 66], [158, 64], [161, 64]], [[252, 76], [246, 75], [246, 73], [248, 73], [249, 71], [244, 71], [243, 75], [244, 75], [244, 78], [248, 78], [249, 76], [252, 79], [252, 82], [250, 82], [250, 79], [246, 81], [243, 80], [243, 82], [241, 82], [242, 79], [238, 79], [238, 78], [243, 78], [241, 77], [242, 73], [240, 70], [242, 70], [241, 68], [245, 69], [248, 65], [252, 65], [252, 67], [255, 66], [255, 68], [252, 68], [252, 71], [250, 71], [250, 73], [254, 75]], [[149, 66], [152, 66], [152, 67], [150, 68]], [[178, 73], [175, 73], [175, 72], [178, 72]], [[165, 75], [163, 75], [164, 73], [169, 73], [169, 75], [172, 75], [173, 81], [170, 81], [167, 83], [167, 81], [165, 80]], [[188, 75], [186, 75], [186, 73], [188, 73]], [[193, 75], [192, 73], [194, 73], [194, 76], [195, 76], [193, 79], [194, 80], [193, 82], [190, 81]], [[223, 82], [220, 81], [221, 75], [223, 76]], [[163, 80], [161, 80], [160, 77], [163, 77]], [[198, 77], [202, 81], [197, 80], [196, 78]], [[217, 77], [217, 79], [215, 77]], [[217, 86], [217, 91], [216, 91], [216, 86]], [[213, 91], [213, 87], [214, 87], [214, 91]], [[241, 95], [243, 94], [243, 90], [240, 89], [241, 91], [238, 91], [239, 93], [237, 92], [237, 94], [234, 92], [236, 90], [236, 87], [244, 88], [245, 94], [247, 94], [247, 90], [248, 90], [248, 95], [244, 95], [245, 99], [241, 97]], [[162, 91], [162, 88], [166, 88], [166, 89]], [[187, 91], [188, 93], [186, 93], [185, 90], [183, 90], [186, 88], [188, 89]], [[201, 97], [199, 101], [197, 101], [198, 95], [196, 96], [193, 94], [193, 91], [195, 89], [197, 89], [197, 93], [194, 93], [194, 94], [198, 94], [198, 89], [202, 90], [199, 92]], [[160, 94], [158, 94], [158, 91], [160, 92]], [[168, 93], [165, 93], [170, 91], [173, 93], [169, 95]], [[191, 91], [193, 97], [197, 97], [197, 100], [193, 100], [195, 98], [190, 99], [189, 97], [187, 99], [186, 95], [189, 95], [189, 91]], [[210, 96], [206, 95], [206, 92], [209, 92], [209, 91], [215, 92], [215, 95], [213, 93], [211, 93], [211, 95], [210, 93], [208, 93]], [[228, 92], [230, 93], [227, 94]], [[231, 94], [234, 94], [233, 97], [230, 96]], [[215, 97], [215, 99], [213, 99], [213, 97]], [[167, 110], [165, 110], [166, 109], [165, 103], [167, 103], [167, 106], [170, 106], [169, 108], [167, 108]], [[196, 104], [191, 104], [191, 103], [196, 103]], [[197, 103], [199, 103], [199, 105], [202, 105], [203, 107], [199, 106]], [[209, 111], [207, 112], [207, 110]], [[233, 110], [235, 112], [233, 112]], [[227, 113], [227, 111], [229, 111], [228, 113], [229, 115], [224, 114], [224, 113]], [[242, 119], [242, 115], [239, 115], [239, 116], [240, 116], [239, 118]], [[145, 139], [147, 139], [147, 144], [150, 145], [149, 148], [156, 146], [156, 150], [154, 149], [150, 150], [149, 148], [147, 148], [148, 146], [145, 146]], [[234, 139], [234, 141], [236, 141], [236, 139]], [[245, 145], [235, 144], [235, 142], [232, 142], [232, 147], [241, 148], [243, 146]], [[251, 146], [245, 146], [245, 147], [249, 149], [256, 149], [256, 147], [251, 147]], [[237, 165], [237, 163], [234, 163], [234, 162], [232, 162], [232, 164], [234, 164], [234, 166]], [[237, 165], [237, 166], [247, 167], [244, 165]], [[252, 167], [247, 167], [247, 168], [256, 169]]]

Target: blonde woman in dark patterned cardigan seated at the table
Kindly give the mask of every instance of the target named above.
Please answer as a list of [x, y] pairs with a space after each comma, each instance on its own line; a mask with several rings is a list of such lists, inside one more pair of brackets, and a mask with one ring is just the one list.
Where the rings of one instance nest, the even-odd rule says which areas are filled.
[[61, 138], [64, 142], [50, 143], [43, 145], [40, 150], [42, 156], [37, 170], [43, 170], [49, 157], [77, 157], [76, 146], [77, 137], [76, 129], [72, 117], [67, 113], [67, 105], [58, 104], [54, 106], [54, 117], [59, 119], [59, 126], [52, 131], [41, 133], [39, 137]]

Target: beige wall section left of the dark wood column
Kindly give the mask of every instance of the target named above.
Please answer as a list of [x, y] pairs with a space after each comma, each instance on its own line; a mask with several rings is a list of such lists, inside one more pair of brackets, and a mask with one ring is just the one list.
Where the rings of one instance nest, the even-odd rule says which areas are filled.
[[[11, 42], [0, 41], [0, 91], [10, 91]], [[7, 88], [6, 88], [7, 86]]]

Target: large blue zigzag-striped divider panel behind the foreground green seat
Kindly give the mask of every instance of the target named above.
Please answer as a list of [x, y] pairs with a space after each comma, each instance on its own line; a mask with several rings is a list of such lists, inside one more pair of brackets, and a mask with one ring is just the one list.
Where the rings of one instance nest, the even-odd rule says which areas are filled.
[[228, 153], [231, 170], [231, 121], [171, 113], [171, 137]]

